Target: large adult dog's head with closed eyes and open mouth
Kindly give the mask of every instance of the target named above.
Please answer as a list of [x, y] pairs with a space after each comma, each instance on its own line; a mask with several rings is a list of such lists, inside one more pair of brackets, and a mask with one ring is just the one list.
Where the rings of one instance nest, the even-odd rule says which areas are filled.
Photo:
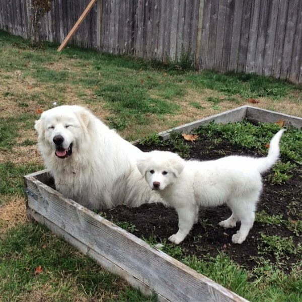
[[72, 156], [74, 148], [88, 133], [90, 112], [77, 105], [63, 105], [44, 111], [35, 122], [42, 155], [53, 153], [59, 159]]

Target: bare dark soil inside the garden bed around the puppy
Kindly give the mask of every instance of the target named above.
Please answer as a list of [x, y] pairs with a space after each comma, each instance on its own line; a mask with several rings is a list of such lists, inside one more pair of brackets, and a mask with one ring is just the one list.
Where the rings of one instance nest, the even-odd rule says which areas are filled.
[[[222, 141], [214, 144], [214, 139], [199, 137], [195, 142], [188, 142], [191, 146], [190, 158], [198, 160], [215, 160], [221, 158], [223, 154], [228, 155], [249, 155], [261, 157], [257, 150], [249, 150], [240, 146], [231, 145], [229, 141]], [[144, 146], [138, 145], [144, 151], [152, 149], [173, 150], [172, 146]], [[283, 220], [300, 220], [302, 218], [302, 186], [301, 175], [298, 168], [294, 170], [293, 177], [282, 185], [271, 185], [263, 176], [264, 187], [258, 203], [258, 212], [265, 210], [269, 215], [282, 214]], [[168, 240], [169, 236], [178, 230], [178, 218], [173, 208], [166, 208], [162, 204], [144, 204], [137, 208], [118, 206], [114, 209], [103, 211], [108, 219], [116, 221], [126, 221], [135, 225], [135, 231], [131, 231], [139, 238], [156, 238], [160, 243]], [[239, 229], [237, 224], [235, 229], [224, 230], [218, 222], [228, 218], [231, 210], [227, 206], [215, 208], [203, 208], [200, 210], [199, 222], [193, 226], [190, 234], [180, 244], [184, 256], [196, 255], [199, 258], [215, 256], [221, 251], [228, 254], [237, 263], [247, 269], [257, 266], [258, 257], [261, 255], [263, 246], [261, 244], [261, 233], [265, 235], [278, 235], [281, 237], [293, 237], [293, 242], [297, 245], [301, 242], [301, 237], [296, 236], [288, 230], [284, 223], [271, 224], [255, 221], [248, 238], [241, 245], [233, 244], [232, 235]], [[129, 231], [129, 230], [127, 230]], [[299, 234], [301, 235], [301, 234]], [[260, 254], [259, 254], [260, 252]], [[265, 254], [265, 258], [275, 263], [276, 257], [273, 252]], [[299, 261], [299, 254], [285, 253], [278, 263], [286, 270], [292, 264]]]

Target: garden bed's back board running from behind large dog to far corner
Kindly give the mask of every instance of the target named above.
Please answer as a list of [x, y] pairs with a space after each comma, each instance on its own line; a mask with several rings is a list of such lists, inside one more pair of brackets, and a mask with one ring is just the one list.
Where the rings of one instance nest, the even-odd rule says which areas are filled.
[[171, 128], [169, 130], [160, 132], [159, 135], [163, 140], [166, 140], [166, 139], [169, 139], [170, 133], [172, 131], [189, 133], [193, 129], [195, 129], [199, 126], [202, 126], [202, 125], [206, 125], [206, 124], [210, 123], [211, 121], [215, 121], [215, 122], [223, 123], [223, 124], [230, 123], [230, 122], [238, 122], [246, 117], [247, 108], [248, 108], [248, 106], [242, 106], [242, 107], [238, 107], [236, 109], [231, 109], [229, 111], [225, 111], [222, 113], [218, 113], [216, 115], [202, 118], [200, 120], [197, 120], [197, 121], [194, 121], [191, 123], [187, 123], [187, 124], [184, 124], [179, 127]]

